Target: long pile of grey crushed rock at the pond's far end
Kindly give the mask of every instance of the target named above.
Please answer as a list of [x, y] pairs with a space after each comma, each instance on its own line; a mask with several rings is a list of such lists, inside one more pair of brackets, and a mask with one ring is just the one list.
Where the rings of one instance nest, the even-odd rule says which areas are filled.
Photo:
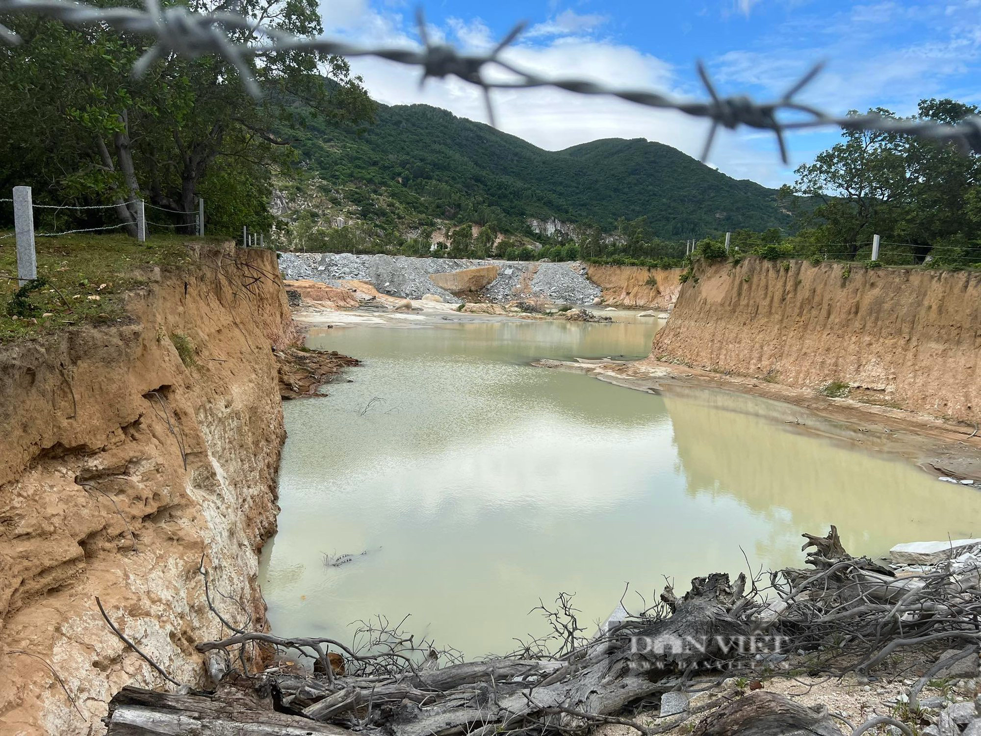
[[440, 289], [429, 278], [430, 274], [479, 266], [496, 266], [498, 269], [497, 278], [482, 290], [485, 298], [496, 303], [541, 298], [560, 304], [592, 304], [600, 295], [599, 287], [586, 276], [586, 265], [579, 261], [529, 263], [353, 253], [280, 254], [280, 271], [287, 280], [309, 279], [331, 286], [346, 280], [363, 281], [391, 296], [420, 299], [430, 293], [451, 304], [459, 304], [461, 299]]

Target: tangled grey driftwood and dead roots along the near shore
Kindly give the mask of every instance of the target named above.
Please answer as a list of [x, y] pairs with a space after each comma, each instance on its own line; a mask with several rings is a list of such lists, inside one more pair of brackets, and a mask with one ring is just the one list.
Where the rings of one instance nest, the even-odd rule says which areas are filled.
[[[920, 643], [959, 642], [963, 657], [977, 651], [981, 588], [976, 575], [965, 578], [945, 568], [898, 578], [872, 560], [849, 555], [834, 527], [825, 537], [804, 537], [804, 549], [814, 548], [807, 556], [810, 569], [769, 573], [765, 587], [762, 573], [735, 581], [722, 573], [699, 577], [681, 598], [668, 587], [658, 604], [609, 623], [590, 639], [582, 636], [569, 598], [560, 595], [557, 610], [542, 605], [554, 632], [551, 654], [547, 643], [538, 640], [508, 657], [463, 662], [387, 622], [368, 627], [360, 646], [235, 630], [227, 639], [199, 644], [198, 650], [231, 664], [235, 648], [240, 654], [260, 642], [310, 657], [320, 662], [319, 671], [271, 670], [252, 679], [232, 671], [214, 695], [166, 697], [172, 700], [128, 689], [113, 701], [109, 733], [224, 734], [230, 731], [174, 730], [174, 723], [182, 722], [183, 708], [195, 728], [210, 719], [209, 728], [214, 721], [229, 729], [230, 723], [245, 722], [243, 712], [267, 708], [265, 720], [249, 721], [259, 730], [243, 732], [294, 733], [270, 729], [300, 722], [310, 734], [355, 728], [386, 736], [504, 731], [581, 736], [595, 724], [620, 723], [653, 736], [695, 717], [696, 711], [650, 724], [632, 719], [631, 710], [656, 711], [662, 695], [689, 689], [697, 677], [706, 687], [706, 676], [719, 681], [740, 672], [755, 675], [760, 658], [765, 662], [781, 651], [842, 647], [850, 655], [848, 667], [862, 672], [899, 648]], [[336, 657], [342, 666], [332, 666]], [[454, 663], [439, 667], [447, 657]], [[250, 687], [258, 695], [243, 700], [241, 693]], [[840, 733], [826, 713], [775, 698], [754, 692], [709, 714], [696, 732]], [[286, 720], [277, 719], [281, 716]]]

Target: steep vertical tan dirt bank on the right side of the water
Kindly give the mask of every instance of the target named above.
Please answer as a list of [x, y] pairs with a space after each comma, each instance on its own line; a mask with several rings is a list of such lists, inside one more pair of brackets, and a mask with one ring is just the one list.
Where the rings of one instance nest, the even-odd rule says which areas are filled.
[[748, 258], [696, 276], [651, 360], [981, 422], [981, 274]]

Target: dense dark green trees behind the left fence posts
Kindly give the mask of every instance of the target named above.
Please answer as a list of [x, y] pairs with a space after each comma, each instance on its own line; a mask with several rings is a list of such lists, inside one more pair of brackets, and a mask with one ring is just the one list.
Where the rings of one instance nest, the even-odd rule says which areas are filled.
[[[237, 9], [256, 25], [322, 31], [314, 0], [245, 0]], [[271, 170], [293, 156], [279, 131], [308, 116], [357, 125], [374, 112], [360, 79], [337, 57], [290, 51], [251, 62], [265, 91], [257, 103], [220, 56], [168, 54], [134, 79], [132, 64], [150, 39], [26, 16], [4, 23], [25, 42], [0, 47], [0, 126], [17, 131], [0, 153], [0, 179], [30, 184], [40, 201], [112, 203], [133, 234], [132, 200], [177, 210], [192, 228], [195, 198], [205, 190], [212, 232], [236, 231], [242, 221], [225, 217], [243, 217], [243, 207], [252, 223], [270, 223]], [[231, 36], [257, 40], [249, 30]]]

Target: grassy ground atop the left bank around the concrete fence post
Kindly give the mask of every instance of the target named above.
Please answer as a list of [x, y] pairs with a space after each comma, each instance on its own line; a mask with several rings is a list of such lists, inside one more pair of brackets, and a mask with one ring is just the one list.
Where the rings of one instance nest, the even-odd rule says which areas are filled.
[[194, 263], [186, 243], [200, 240], [154, 236], [140, 243], [124, 235], [38, 237], [38, 279], [26, 291], [17, 281], [14, 238], [0, 240], [0, 343], [123, 319], [125, 292], [148, 283], [153, 266]]

